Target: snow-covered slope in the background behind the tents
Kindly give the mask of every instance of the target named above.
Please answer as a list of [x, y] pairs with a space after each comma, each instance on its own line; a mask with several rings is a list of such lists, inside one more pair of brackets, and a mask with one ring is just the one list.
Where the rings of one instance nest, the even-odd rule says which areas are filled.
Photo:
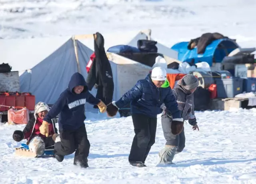
[[205, 32], [220, 32], [252, 47], [255, 8], [255, 0], [2, 0], [0, 37], [151, 28], [152, 36], [167, 46]]

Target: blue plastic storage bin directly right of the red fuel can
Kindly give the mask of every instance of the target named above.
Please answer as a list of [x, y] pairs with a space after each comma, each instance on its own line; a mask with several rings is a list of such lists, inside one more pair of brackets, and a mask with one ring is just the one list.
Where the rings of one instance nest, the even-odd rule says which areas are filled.
[[218, 78], [216, 79], [217, 97], [234, 98], [243, 92], [243, 78]]

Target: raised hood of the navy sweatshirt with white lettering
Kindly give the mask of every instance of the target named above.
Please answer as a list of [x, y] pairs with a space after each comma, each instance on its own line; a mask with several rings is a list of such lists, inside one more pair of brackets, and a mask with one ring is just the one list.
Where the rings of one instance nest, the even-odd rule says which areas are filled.
[[84, 86], [84, 90], [82, 91], [82, 93], [88, 91], [88, 87], [87, 87], [86, 81], [84, 79], [84, 76], [82, 76], [82, 74], [80, 74], [78, 72], [74, 73], [70, 78], [70, 81], [68, 83], [68, 88], [69, 88], [70, 92], [74, 93], [73, 89], [76, 86]]

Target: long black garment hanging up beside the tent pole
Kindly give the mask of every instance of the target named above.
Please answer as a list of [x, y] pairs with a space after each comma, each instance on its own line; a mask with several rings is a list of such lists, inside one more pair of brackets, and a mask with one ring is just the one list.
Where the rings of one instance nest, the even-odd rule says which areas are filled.
[[[112, 102], [114, 93], [114, 81], [110, 62], [104, 49], [104, 38], [102, 34], [94, 34], [94, 52], [95, 58], [92, 67], [88, 73], [86, 82], [89, 90], [92, 90], [94, 84], [98, 85], [96, 98], [102, 100], [105, 104]], [[98, 108], [95, 106], [95, 108]]]

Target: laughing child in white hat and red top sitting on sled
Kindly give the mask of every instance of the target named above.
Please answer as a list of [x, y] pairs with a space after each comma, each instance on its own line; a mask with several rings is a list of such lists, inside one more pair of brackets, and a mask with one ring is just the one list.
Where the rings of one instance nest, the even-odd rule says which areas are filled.
[[13, 139], [17, 142], [27, 139], [26, 144], [37, 156], [43, 155], [45, 148], [53, 149], [55, 139], [58, 136], [58, 130], [54, 123], [49, 125], [48, 137], [40, 134], [39, 127], [42, 125], [43, 119], [49, 110], [50, 108], [47, 104], [38, 102], [35, 106], [34, 117], [28, 121], [24, 130], [15, 130], [12, 135]]

